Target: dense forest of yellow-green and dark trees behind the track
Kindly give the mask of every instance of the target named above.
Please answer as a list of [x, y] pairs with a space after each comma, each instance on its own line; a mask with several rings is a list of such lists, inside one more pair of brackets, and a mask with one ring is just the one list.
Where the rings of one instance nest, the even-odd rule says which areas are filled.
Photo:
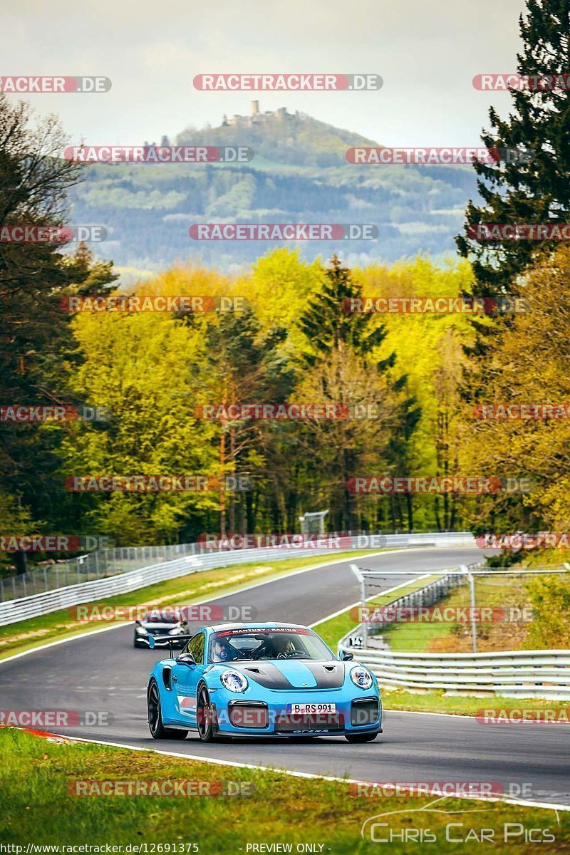
[[[570, 0], [528, 2], [521, 74], [567, 71]], [[331, 530], [566, 530], [568, 419], [484, 421], [485, 402], [570, 403], [570, 248], [480, 245], [481, 222], [565, 222], [570, 213], [568, 91], [513, 92], [491, 110], [485, 144], [517, 145], [514, 166], [476, 165], [460, 257], [347, 267], [275, 249], [243, 274], [167, 268], [144, 295], [245, 298], [237, 311], [62, 310], [63, 297], [117, 293], [111, 262], [85, 246], [0, 243], [0, 404], [89, 404], [100, 422], [0, 422], [0, 518], [11, 534], [105, 534], [118, 545], [195, 540], [203, 532], [292, 532], [329, 509]], [[0, 222], [61, 225], [80, 179], [56, 156], [62, 129], [37, 125], [0, 95]], [[482, 201], [480, 201], [482, 200]], [[462, 256], [462, 257], [461, 257]], [[121, 293], [125, 293], [124, 289]], [[498, 315], [355, 314], [347, 299], [524, 298]], [[203, 404], [358, 405], [374, 417], [332, 421], [205, 420]], [[212, 492], [69, 492], [72, 475], [192, 475]], [[228, 475], [249, 489], [224, 486]], [[359, 475], [528, 478], [496, 496], [367, 495]], [[39, 556], [41, 557], [41, 556]], [[0, 556], [3, 566], [18, 563]]]

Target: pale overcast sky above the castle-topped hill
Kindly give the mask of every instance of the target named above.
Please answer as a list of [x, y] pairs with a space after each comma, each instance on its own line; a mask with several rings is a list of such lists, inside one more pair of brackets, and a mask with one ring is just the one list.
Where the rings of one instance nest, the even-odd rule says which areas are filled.
[[[73, 142], [134, 144], [224, 113], [287, 107], [386, 145], [471, 145], [491, 103], [475, 74], [516, 69], [523, 0], [0, 0], [3, 75], [109, 77], [103, 94], [26, 96]], [[203, 73], [376, 73], [380, 91], [202, 92]], [[13, 96], [10, 96], [13, 97]], [[212, 139], [212, 144], [215, 144]]]

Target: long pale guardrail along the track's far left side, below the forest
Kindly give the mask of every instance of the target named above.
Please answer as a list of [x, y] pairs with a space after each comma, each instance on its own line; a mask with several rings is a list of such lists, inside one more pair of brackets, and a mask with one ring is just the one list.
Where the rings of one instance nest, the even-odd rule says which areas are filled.
[[[325, 535], [328, 537], [328, 535]], [[332, 539], [332, 536], [331, 536]], [[330, 556], [338, 551], [361, 549], [365, 542], [371, 551], [382, 548], [405, 546], [474, 546], [473, 534], [469, 532], [450, 532], [437, 534], [374, 534], [338, 537], [338, 545], [319, 548], [298, 549], [292, 546], [273, 547], [267, 549], [226, 550], [204, 553], [203, 555], [186, 555], [173, 561], [151, 564], [119, 575], [107, 576], [90, 582], [79, 582], [77, 585], [56, 588], [44, 593], [32, 594], [30, 597], [11, 599], [0, 603], [0, 626], [9, 623], [25, 621], [30, 617], [47, 615], [52, 611], [67, 609], [73, 605], [91, 603], [105, 597], [115, 597], [118, 594], [130, 593], [138, 588], [154, 585], [157, 582], [175, 579], [191, 573], [198, 573], [231, 564], [245, 564], [256, 561], [276, 561], [285, 558], [311, 557], [314, 555]], [[372, 541], [372, 542], [371, 542]]]

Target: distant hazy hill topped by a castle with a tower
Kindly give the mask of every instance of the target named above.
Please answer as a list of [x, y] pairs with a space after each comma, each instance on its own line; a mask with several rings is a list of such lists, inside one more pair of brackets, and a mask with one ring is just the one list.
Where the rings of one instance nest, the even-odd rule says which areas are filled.
[[375, 240], [302, 241], [303, 255], [350, 263], [426, 251], [455, 251], [473, 169], [462, 166], [358, 166], [345, 151], [379, 143], [303, 114], [259, 113], [220, 127], [186, 128], [172, 144], [248, 145], [254, 159], [230, 164], [97, 164], [73, 195], [74, 223], [102, 223], [109, 240], [94, 245], [115, 264], [156, 270], [188, 258], [221, 269], [247, 265], [274, 242], [195, 241], [195, 222], [373, 223]]

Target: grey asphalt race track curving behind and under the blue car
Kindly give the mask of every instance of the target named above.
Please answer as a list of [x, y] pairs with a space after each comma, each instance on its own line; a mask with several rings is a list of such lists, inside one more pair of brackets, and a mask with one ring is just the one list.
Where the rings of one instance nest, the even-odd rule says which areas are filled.
[[[480, 557], [476, 548], [423, 547], [356, 562], [369, 569], [420, 572], [452, 568]], [[260, 620], [314, 623], [356, 603], [359, 591], [349, 563], [269, 581], [212, 602], [250, 604]], [[408, 579], [386, 575], [384, 588]], [[129, 624], [0, 662], [0, 706], [3, 710], [109, 711], [112, 721], [107, 727], [60, 731], [87, 739], [361, 781], [496, 781], [510, 793], [513, 785], [525, 785], [526, 799], [532, 801], [570, 805], [570, 727], [563, 725], [493, 726], [460, 716], [387, 711], [384, 734], [365, 745], [350, 745], [338, 737], [303, 744], [227, 740], [203, 745], [192, 732], [185, 741], [152, 740], [145, 690], [153, 663], [165, 653], [135, 650], [132, 634]], [[510, 705], [524, 705], [524, 701], [513, 700]], [[484, 706], [493, 706], [493, 701], [481, 699]]]

